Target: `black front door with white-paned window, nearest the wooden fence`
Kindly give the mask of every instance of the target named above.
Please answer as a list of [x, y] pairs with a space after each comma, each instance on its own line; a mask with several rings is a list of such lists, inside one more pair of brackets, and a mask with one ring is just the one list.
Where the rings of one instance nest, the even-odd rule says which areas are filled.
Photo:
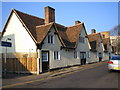
[[49, 70], [49, 51], [42, 51], [42, 72]]

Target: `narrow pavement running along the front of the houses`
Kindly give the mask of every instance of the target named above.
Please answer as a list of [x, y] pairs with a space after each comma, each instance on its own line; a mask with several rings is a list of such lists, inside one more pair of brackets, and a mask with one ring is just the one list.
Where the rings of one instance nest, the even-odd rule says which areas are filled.
[[[107, 61], [104, 61], [104, 62], [107, 62]], [[10, 88], [10, 87], [14, 87], [16, 85], [23, 85], [23, 84], [27, 84], [27, 83], [36, 82], [36, 81], [43, 81], [43, 80], [55, 78], [58, 76], [71, 74], [74, 72], [78, 72], [80, 70], [86, 70], [86, 69], [90, 69], [90, 68], [99, 66], [104, 62], [72, 66], [72, 67], [54, 70], [54, 71], [50, 71], [50, 72], [46, 72], [46, 73], [41, 73], [40, 75], [7, 74], [7, 78], [2, 79], [2, 88]]]

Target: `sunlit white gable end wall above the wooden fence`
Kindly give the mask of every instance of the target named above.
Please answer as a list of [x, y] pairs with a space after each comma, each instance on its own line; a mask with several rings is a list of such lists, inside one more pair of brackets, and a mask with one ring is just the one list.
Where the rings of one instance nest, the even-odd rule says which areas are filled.
[[[7, 40], [8, 42], [12, 42], [12, 47], [7, 48], [8, 53], [36, 52], [35, 42], [23, 27], [15, 13], [12, 14], [8, 22], [2, 41], [6, 41], [7, 38], [11, 39]], [[2, 48], [2, 53], [5, 53], [4, 47]]]

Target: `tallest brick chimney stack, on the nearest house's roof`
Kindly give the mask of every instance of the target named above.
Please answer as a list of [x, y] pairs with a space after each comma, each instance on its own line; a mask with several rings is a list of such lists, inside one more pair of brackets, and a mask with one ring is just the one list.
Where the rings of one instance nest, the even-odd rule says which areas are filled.
[[45, 24], [55, 22], [55, 9], [52, 7], [45, 7]]

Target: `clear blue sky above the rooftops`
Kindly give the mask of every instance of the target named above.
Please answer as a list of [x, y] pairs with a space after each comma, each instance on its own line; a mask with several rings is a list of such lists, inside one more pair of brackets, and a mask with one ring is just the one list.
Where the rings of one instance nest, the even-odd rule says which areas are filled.
[[57, 23], [71, 26], [79, 20], [85, 23], [88, 34], [93, 28], [102, 32], [118, 25], [118, 2], [2, 2], [2, 28], [12, 8], [44, 18], [46, 6], [55, 8]]

